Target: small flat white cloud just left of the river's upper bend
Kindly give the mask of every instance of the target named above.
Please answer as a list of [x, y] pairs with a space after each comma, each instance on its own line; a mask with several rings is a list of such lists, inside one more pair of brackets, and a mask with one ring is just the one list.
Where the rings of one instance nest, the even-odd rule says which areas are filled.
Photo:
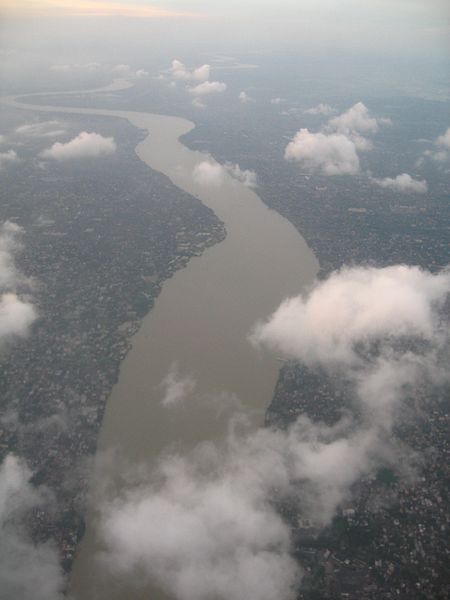
[[41, 153], [43, 158], [57, 161], [96, 158], [107, 156], [116, 151], [116, 143], [112, 137], [103, 137], [99, 133], [82, 131], [67, 143], [56, 142], [51, 148]]

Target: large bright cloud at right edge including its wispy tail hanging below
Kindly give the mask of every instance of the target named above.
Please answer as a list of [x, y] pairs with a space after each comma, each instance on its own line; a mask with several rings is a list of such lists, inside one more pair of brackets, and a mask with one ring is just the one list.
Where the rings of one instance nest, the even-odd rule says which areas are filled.
[[449, 381], [449, 297], [448, 269], [344, 268], [308, 295], [286, 300], [252, 339], [347, 381], [357, 431], [373, 456], [383, 445], [389, 450], [392, 428], [412, 410], [411, 400], [424, 402], [420, 386]]

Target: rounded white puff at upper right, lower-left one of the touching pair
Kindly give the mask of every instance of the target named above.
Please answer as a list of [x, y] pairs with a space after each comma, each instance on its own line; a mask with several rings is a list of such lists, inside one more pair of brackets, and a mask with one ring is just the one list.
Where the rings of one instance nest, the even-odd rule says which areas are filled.
[[324, 175], [354, 175], [359, 171], [354, 142], [338, 133], [312, 133], [300, 129], [286, 146], [284, 157]]

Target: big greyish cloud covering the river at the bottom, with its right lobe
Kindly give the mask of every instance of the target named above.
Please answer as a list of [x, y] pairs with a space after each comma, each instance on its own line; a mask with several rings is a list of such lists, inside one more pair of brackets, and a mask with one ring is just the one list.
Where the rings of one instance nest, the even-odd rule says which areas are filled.
[[352, 483], [384, 453], [365, 431], [299, 418], [287, 431], [231, 426], [222, 445], [165, 456], [156, 472], [102, 503], [102, 564], [139, 575], [177, 600], [294, 600], [302, 576], [290, 500], [316, 527], [329, 523]]

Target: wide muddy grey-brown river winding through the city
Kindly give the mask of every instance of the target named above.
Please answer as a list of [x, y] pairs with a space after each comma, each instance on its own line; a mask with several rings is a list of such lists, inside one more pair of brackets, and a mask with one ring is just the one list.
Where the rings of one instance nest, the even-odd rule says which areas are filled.
[[[318, 271], [318, 261], [298, 231], [267, 208], [256, 191], [231, 175], [224, 173], [218, 186], [194, 179], [196, 165], [205, 160], [216, 163], [179, 142], [195, 126], [190, 121], [5, 100], [28, 110], [127, 119], [148, 134], [137, 145], [137, 156], [199, 198], [227, 230], [224, 241], [192, 258], [165, 281], [153, 309], [133, 336], [107, 402], [98, 452], [116, 451], [124, 459], [117, 465], [151, 465], [168, 448], [184, 453], [201, 441], [219, 440], [226, 429], [225, 409], [233, 403], [253, 414], [255, 426], [262, 424], [280, 365], [276, 356], [253, 347], [248, 334], [286, 296], [310, 284]], [[186, 386], [183, 402], [163, 406], [161, 383], [170, 372], [189, 378], [192, 385]], [[94, 496], [99, 485], [92, 478]], [[137, 591], [119, 577], [102, 576], [96, 563], [101, 543], [95, 525], [96, 512], [90, 509], [72, 570], [71, 596], [76, 600], [165, 598], [155, 589]]]

